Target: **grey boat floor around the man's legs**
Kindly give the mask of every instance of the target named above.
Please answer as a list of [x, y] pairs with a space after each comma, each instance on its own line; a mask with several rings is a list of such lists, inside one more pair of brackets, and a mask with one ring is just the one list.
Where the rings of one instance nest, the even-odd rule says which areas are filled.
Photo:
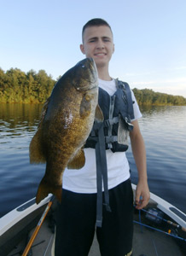
[[[31, 232], [32, 234], [32, 232]], [[30, 234], [30, 235], [31, 235]], [[33, 256], [51, 256], [51, 248], [54, 241], [54, 233], [49, 229], [49, 223], [44, 221], [38, 236], [32, 245]], [[8, 256], [21, 255], [21, 251], [26, 247], [26, 240], [8, 254]], [[185, 256], [178, 247], [175, 239], [154, 230], [134, 224], [133, 256]], [[29, 254], [28, 254], [29, 256]], [[89, 256], [101, 256], [96, 236], [90, 248]], [[114, 255], [113, 255], [114, 256]]]

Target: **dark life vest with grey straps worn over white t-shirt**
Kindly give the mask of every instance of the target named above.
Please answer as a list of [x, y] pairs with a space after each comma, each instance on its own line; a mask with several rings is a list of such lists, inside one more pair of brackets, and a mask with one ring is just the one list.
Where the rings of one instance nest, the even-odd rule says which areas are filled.
[[[128, 148], [126, 135], [133, 129], [133, 102], [129, 84], [116, 79], [117, 90], [110, 96], [106, 90], [99, 88], [98, 103], [104, 116], [103, 129], [106, 149], [123, 152]], [[95, 122], [84, 148], [96, 148], [98, 124]]]

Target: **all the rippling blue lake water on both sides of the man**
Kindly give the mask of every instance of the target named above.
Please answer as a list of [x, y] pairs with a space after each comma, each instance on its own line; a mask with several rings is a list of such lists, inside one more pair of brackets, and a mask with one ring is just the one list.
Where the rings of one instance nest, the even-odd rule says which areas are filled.
[[[30, 165], [29, 143], [42, 105], [0, 107], [0, 217], [36, 195], [44, 165]], [[186, 107], [141, 108], [139, 120], [147, 150], [149, 189], [186, 212]], [[137, 170], [131, 154], [132, 183]]]

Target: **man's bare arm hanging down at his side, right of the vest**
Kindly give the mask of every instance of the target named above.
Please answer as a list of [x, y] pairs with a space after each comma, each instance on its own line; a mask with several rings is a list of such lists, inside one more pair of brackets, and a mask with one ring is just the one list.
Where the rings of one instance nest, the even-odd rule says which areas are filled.
[[138, 125], [138, 121], [131, 122], [134, 125], [133, 130], [130, 132], [131, 149], [137, 165], [138, 183], [136, 190], [137, 209], [146, 207], [150, 198], [148, 189], [148, 176], [147, 176], [147, 163], [146, 163], [146, 150], [142, 138], [142, 134]]

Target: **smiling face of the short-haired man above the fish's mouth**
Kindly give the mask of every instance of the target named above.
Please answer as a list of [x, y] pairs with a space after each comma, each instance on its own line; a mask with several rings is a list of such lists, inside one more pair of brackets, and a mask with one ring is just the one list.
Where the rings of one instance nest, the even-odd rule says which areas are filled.
[[108, 67], [113, 55], [113, 34], [108, 26], [88, 26], [84, 30], [84, 44], [80, 49], [96, 62], [96, 67]]

